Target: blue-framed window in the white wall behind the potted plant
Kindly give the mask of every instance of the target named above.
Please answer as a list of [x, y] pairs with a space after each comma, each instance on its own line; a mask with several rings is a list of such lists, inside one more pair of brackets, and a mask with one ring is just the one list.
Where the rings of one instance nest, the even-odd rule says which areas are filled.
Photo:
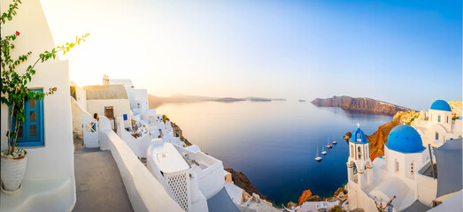
[[[42, 93], [42, 89], [32, 91]], [[24, 104], [24, 112], [26, 121], [19, 126], [16, 143], [19, 147], [43, 146], [43, 100], [27, 100]]]

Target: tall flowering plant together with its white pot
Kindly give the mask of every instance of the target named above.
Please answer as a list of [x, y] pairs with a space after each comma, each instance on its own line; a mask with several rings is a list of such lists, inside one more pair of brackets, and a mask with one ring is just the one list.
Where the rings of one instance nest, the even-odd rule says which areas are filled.
[[[0, 19], [1, 27], [4, 27], [4, 24], [12, 20], [13, 16], [17, 14], [19, 4], [21, 4], [20, 0], [13, 0], [8, 11], [2, 13]], [[2, 73], [1, 102], [8, 107], [9, 112], [8, 132], [6, 133], [8, 149], [4, 149], [0, 152], [1, 188], [6, 194], [13, 194], [19, 191], [22, 178], [24, 178], [26, 173], [27, 151], [25, 149], [16, 148], [19, 126], [26, 121], [24, 104], [27, 100], [31, 99], [42, 100], [46, 95], [53, 95], [57, 91], [56, 87], [52, 87], [48, 92], [43, 93], [34, 92], [27, 88], [27, 83], [30, 82], [35, 75], [35, 65], [39, 62], [44, 63], [51, 58], [55, 59], [57, 53], [61, 51], [63, 54], [66, 54], [66, 52], [74, 46], [79, 45], [80, 42], [84, 42], [85, 38], [89, 35], [85, 34], [81, 37], [76, 37], [75, 42], [66, 43], [66, 45], [58, 46], [50, 51], [43, 52], [39, 55], [39, 58], [37, 58], [34, 64], [28, 65], [27, 68], [21, 70], [21, 72], [16, 72], [17, 67], [25, 67], [19, 65], [24, 64], [27, 58], [32, 54], [32, 52], [29, 51], [25, 55], [20, 55], [15, 58], [12, 57], [11, 52], [14, 49], [13, 42], [19, 38], [19, 34], [20, 33], [16, 31], [14, 34], [1, 36], [0, 40]]]

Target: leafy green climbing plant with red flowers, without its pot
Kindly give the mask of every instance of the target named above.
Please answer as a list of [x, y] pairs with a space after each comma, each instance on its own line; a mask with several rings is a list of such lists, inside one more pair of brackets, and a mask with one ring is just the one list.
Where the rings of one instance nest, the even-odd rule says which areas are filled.
[[[13, 0], [12, 4], [5, 11], [0, 19], [2, 27], [7, 21], [11, 21], [16, 16], [19, 9], [19, 4], [22, 4], [20, 0]], [[0, 27], [1, 28], [1, 27]], [[44, 51], [39, 55], [39, 58], [35, 60], [34, 64], [27, 66], [24, 72], [17, 72], [16, 68], [19, 64], [23, 64], [27, 61], [28, 57], [32, 54], [32, 51], [28, 51], [24, 55], [20, 55], [17, 58], [12, 57], [12, 50], [15, 48], [13, 42], [19, 38], [19, 32], [11, 35], [1, 37], [1, 67], [2, 67], [2, 96], [1, 102], [9, 108], [9, 120], [8, 120], [8, 132], [6, 133], [8, 139], [8, 152], [6, 155], [12, 155], [17, 146], [16, 141], [18, 139], [19, 125], [22, 125], [26, 121], [26, 114], [24, 112], [24, 104], [29, 99], [42, 100], [46, 95], [53, 95], [57, 91], [57, 87], [50, 87], [48, 92], [39, 93], [33, 92], [27, 88], [27, 83], [32, 80], [35, 75], [35, 65], [39, 62], [44, 63], [49, 59], [55, 59], [59, 52], [66, 54], [74, 46], [79, 45], [81, 42], [85, 42], [85, 38], [89, 34], [85, 34], [81, 37], [76, 37], [75, 42], [66, 42], [65, 45], [58, 46], [51, 49], [50, 51]]]

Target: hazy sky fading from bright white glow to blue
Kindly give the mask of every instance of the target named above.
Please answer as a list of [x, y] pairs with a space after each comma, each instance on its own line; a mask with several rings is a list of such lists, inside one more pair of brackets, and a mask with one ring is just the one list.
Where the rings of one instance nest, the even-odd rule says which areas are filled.
[[57, 45], [91, 34], [68, 57], [81, 86], [106, 73], [163, 96], [461, 100], [461, 1], [41, 2]]

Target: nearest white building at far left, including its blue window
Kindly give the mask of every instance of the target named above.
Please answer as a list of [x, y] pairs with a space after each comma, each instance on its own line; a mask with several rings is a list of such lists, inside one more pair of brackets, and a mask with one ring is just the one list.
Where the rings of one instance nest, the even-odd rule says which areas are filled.
[[[11, 3], [0, 2], [2, 13]], [[2, 24], [2, 36], [15, 31], [20, 35], [14, 42], [13, 58], [27, 51], [33, 52], [27, 63], [16, 68], [19, 74], [20, 70], [33, 64], [40, 53], [57, 46], [38, 0], [19, 4], [18, 15]], [[29, 126], [23, 127], [23, 136], [29, 138], [19, 138], [18, 142], [19, 148], [27, 150], [26, 176], [16, 195], [0, 193], [0, 211], [71, 211], [76, 197], [68, 61], [57, 58], [38, 63], [35, 69], [35, 76], [27, 84], [29, 89], [47, 92], [51, 87], [57, 87], [58, 90], [43, 101], [27, 102], [28, 110], [35, 113], [27, 114], [23, 125]], [[1, 107], [1, 149], [5, 149], [9, 110], [4, 104]]]

